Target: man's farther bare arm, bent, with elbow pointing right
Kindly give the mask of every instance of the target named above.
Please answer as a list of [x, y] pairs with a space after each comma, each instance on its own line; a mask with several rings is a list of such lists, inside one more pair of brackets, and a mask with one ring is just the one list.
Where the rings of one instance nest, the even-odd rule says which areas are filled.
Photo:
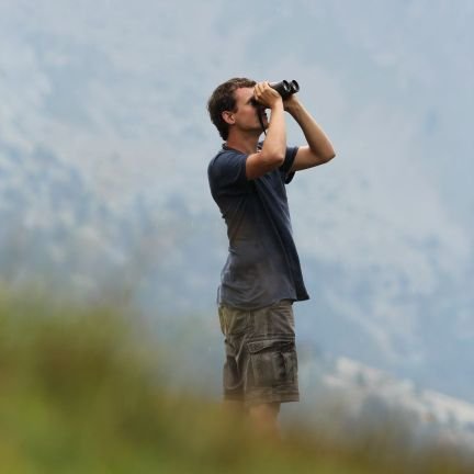
[[301, 126], [307, 140], [307, 146], [298, 148], [291, 171], [300, 171], [330, 161], [336, 156], [336, 151], [329, 138], [296, 95], [291, 95], [284, 105], [285, 110]]

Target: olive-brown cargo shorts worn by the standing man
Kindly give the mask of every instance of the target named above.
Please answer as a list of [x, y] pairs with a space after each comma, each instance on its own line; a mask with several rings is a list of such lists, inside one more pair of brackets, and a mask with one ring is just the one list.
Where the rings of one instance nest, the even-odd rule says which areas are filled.
[[246, 405], [297, 402], [292, 302], [242, 311], [219, 306], [225, 336], [224, 399]]

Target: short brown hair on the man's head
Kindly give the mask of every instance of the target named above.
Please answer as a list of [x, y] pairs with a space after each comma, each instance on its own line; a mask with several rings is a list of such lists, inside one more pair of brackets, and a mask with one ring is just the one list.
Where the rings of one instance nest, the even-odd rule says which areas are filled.
[[228, 137], [228, 124], [223, 119], [222, 113], [225, 111], [235, 111], [235, 90], [240, 88], [250, 88], [256, 83], [257, 82], [252, 79], [233, 78], [225, 81], [221, 86], [217, 86], [217, 88], [212, 93], [210, 100], [207, 101], [207, 110], [211, 115], [212, 123], [216, 126], [223, 139], [227, 139]]

